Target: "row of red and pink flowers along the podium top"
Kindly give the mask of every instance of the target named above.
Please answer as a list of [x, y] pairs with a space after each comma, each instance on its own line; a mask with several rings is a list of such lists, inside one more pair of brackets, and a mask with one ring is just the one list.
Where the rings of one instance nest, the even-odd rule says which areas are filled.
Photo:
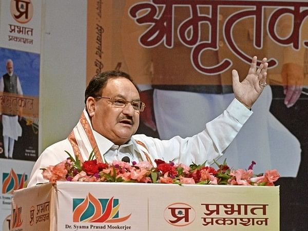
[[[68, 152], [67, 152], [68, 153]], [[254, 161], [244, 169], [230, 169], [224, 160], [217, 169], [204, 164], [175, 164], [163, 160], [155, 160], [157, 167], [149, 162], [113, 161], [112, 164], [97, 163], [93, 159], [93, 151], [89, 160], [81, 163], [69, 153], [69, 158], [54, 166], [42, 168], [43, 177], [51, 183], [56, 181], [85, 181], [85, 182], [138, 182], [166, 184], [220, 184], [220, 185], [256, 185], [274, 186], [279, 179], [276, 169], [267, 170], [265, 174], [255, 175]]]

